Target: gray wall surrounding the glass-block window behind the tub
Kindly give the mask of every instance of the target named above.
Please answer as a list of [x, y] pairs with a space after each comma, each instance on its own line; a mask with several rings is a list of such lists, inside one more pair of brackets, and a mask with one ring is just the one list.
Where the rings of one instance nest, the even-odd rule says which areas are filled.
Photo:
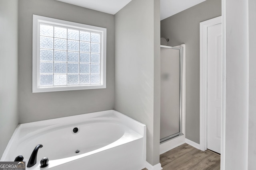
[[[107, 28], [106, 89], [32, 93], [32, 15]], [[20, 123], [114, 109], [114, 15], [56, 0], [19, 0]]]

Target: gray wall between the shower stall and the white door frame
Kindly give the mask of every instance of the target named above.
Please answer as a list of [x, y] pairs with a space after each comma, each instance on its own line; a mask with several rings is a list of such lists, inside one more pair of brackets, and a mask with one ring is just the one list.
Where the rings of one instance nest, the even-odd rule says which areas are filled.
[[221, 0], [206, 0], [161, 21], [161, 37], [168, 45], [186, 44], [186, 138], [200, 143], [199, 23], [221, 16]]

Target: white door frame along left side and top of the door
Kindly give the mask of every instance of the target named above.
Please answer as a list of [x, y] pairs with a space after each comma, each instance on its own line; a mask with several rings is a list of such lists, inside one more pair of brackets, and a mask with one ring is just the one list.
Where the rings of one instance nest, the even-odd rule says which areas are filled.
[[222, 16], [200, 22], [200, 150], [207, 149], [207, 39], [208, 27], [222, 23]]

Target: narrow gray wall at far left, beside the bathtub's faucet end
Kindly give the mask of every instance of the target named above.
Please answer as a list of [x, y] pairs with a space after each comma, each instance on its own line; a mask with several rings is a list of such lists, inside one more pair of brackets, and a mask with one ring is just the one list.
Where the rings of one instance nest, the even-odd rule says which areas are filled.
[[18, 125], [18, 0], [0, 0], [0, 157]]

